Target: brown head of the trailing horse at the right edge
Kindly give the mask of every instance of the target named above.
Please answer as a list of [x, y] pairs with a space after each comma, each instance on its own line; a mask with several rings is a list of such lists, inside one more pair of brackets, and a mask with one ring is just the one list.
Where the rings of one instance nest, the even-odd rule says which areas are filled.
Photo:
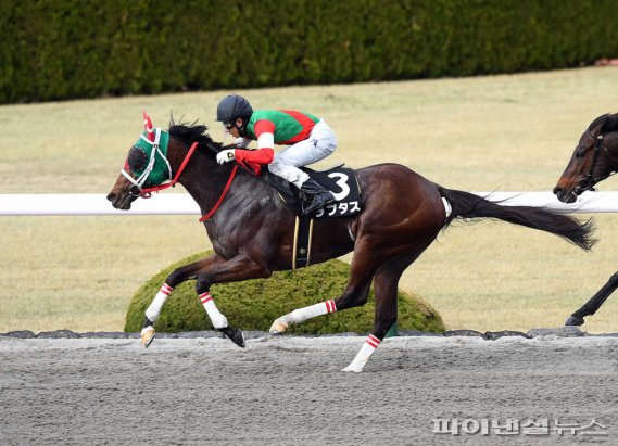
[[618, 114], [606, 114], [594, 119], [581, 136], [554, 194], [563, 203], [572, 203], [617, 169]]

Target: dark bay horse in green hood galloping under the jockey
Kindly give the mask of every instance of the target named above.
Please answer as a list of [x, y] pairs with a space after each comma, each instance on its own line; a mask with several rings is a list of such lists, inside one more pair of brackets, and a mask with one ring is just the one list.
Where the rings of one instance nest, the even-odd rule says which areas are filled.
[[[128, 209], [152, 186], [173, 179], [200, 205], [201, 220], [216, 254], [169, 275], [146, 311], [142, 343], [148, 346], [152, 341], [153, 324], [174, 288], [197, 279], [197, 293], [213, 326], [244, 346], [242, 331], [229, 327], [210, 288], [291, 269], [295, 215], [261, 178], [238, 166], [219, 166], [215, 154], [222, 145], [211, 140], [205, 126], [176, 125], [172, 119], [166, 132], [152, 129], [146, 114], [144, 125], [147, 131], [129, 151], [108, 200], [116, 208]], [[540, 207], [501, 206], [468, 192], [442, 188], [402, 165], [379, 164], [355, 174], [363, 193], [363, 211], [350, 217], [316, 218], [313, 229], [312, 263], [354, 251], [345, 290], [337, 298], [281, 316], [270, 328], [281, 333], [291, 323], [364, 305], [373, 281], [374, 330], [344, 371], [363, 370], [396, 321], [401, 275], [454, 219], [501, 219], [551, 232], [584, 250], [594, 243], [591, 221], [582, 224]]]

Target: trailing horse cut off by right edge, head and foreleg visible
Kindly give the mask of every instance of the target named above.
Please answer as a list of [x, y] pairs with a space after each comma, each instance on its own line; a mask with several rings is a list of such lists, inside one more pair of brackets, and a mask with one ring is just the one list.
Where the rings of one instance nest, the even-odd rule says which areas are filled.
[[[618, 171], [618, 113], [605, 114], [594, 119], [579, 139], [573, 154], [554, 193], [563, 203], [573, 203], [594, 184]], [[618, 272], [601, 288], [580, 309], [565, 322], [581, 326], [583, 318], [594, 315], [609, 295], [618, 288]]]

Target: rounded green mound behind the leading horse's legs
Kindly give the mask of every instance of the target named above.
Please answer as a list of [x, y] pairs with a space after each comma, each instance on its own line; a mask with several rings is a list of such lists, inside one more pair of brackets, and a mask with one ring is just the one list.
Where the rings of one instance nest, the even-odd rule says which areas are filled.
[[[143, 315], [154, 295], [176, 268], [210, 255], [196, 254], [165, 268], [134, 295], [127, 311], [125, 331], [141, 330]], [[211, 288], [217, 307], [229, 323], [243, 330], [267, 331], [273, 321], [295, 308], [339, 296], [348, 280], [350, 266], [341, 260], [292, 271], [275, 272], [269, 279], [216, 284]], [[194, 281], [177, 286], [165, 303], [155, 323], [159, 332], [212, 330], [211, 321], [194, 290]], [[325, 334], [340, 332], [364, 333], [374, 324], [374, 293], [363, 307], [318, 317], [290, 327], [290, 333]], [[400, 330], [444, 331], [440, 315], [414, 294], [399, 292]]]

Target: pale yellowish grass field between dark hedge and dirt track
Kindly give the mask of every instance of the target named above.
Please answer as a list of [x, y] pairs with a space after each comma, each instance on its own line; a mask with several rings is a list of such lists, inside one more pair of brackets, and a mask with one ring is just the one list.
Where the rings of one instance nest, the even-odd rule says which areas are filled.
[[[324, 116], [339, 148], [321, 166], [399, 162], [454, 189], [550, 191], [590, 122], [617, 111], [617, 85], [618, 68], [591, 67], [242, 93], [255, 107]], [[161, 127], [171, 111], [201, 119], [222, 140], [212, 119], [227, 93], [0, 106], [0, 193], [108, 193], [142, 110]], [[618, 181], [601, 189], [618, 190]], [[400, 286], [450, 329], [559, 326], [618, 269], [618, 216], [596, 219], [592, 253], [506, 224], [450, 228]], [[4, 217], [0, 246], [3, 332], [122, 330], [139, 286], [211, 244], [194, 217]], [[616, 320], [618, 295], [584, 327], [617, 331]]]

